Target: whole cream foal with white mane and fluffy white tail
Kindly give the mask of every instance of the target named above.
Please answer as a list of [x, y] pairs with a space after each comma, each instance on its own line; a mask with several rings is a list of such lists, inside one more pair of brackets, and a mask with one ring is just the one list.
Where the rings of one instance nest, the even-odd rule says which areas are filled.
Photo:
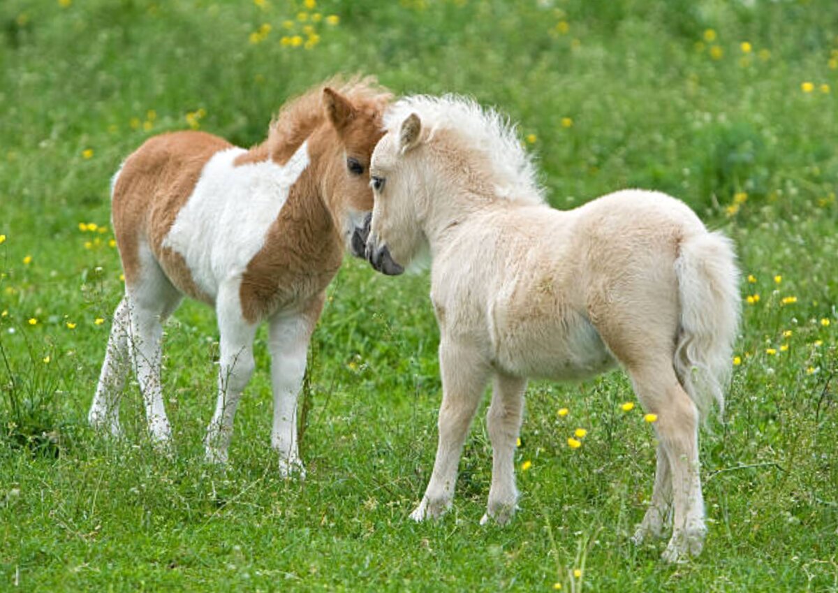
[[729, 240], [662, 193], [627, 190], [561, 212], [544, 203], [514, 130], [493, 111], [415, 96], [385, 113], [372, 157], [367, 258], [401, 272], [429, 248], [440, 328], [442, 407], [417, 521], [450, 507], [458, 458], [494, 381], [489, 517], [507, 522], [529, 377], [582, 379], [618, 363], [658, 416], [651, 505], [634, 536], [660, 536], [664, 559], [701, 551], [706, 532], [697, 429], [723, 404], [739, 318]]

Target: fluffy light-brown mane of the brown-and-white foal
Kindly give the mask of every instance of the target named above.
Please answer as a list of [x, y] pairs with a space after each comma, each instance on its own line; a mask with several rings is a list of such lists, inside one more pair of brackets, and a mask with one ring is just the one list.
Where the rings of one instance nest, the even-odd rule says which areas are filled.
[[[354, 75], [344, 80], [341, 75], [323, 81], [303, 95], [288, 101], [271, 121], [265, 142], [252, 147], [235, 160], [235, 164], [260, 162], [271, 158], [284, 164], [311, 133], [326, 119], [323, 89], [331, 87], [352, 101], [359, 111], [380, 114], [393, 97], [378, 84], [375, 76]], [[380, 118], [380, 115], [378, 116]]]

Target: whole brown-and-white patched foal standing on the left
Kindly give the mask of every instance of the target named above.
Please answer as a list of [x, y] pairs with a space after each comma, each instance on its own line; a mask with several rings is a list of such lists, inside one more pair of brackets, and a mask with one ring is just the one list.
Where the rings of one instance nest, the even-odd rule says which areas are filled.
[[371, 79], [330, 80], [284, 106], [266, 142], [251, 150], [179, 131], [149, 139], [127, 158], [112, 183], [126, 291], [114, 314], [92, 425], [120, 434], [130, 358], [151, 435], [170, 441], [161, 339], [163, 322], [186, 295], [215, 307], [220, 331], [208, 459], [226, 461], [235, 408], [254, 368], [256, 328], [266, 320], [271, 442], [283, 475], [303, 470], [296, 410], [308, 342], [344, 247], [363, 255], [370, 156], [390, 100]]

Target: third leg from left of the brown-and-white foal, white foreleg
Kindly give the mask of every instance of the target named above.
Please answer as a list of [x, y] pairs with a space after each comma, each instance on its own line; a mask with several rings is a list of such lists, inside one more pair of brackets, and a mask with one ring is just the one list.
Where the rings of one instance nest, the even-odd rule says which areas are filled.
[[220, 332], [218, 400], [204, 445], [207, 461], [223, 464], [233, 435], [235, 409], [253, 374], [253, 338], [259, 326], [241, 315], [238, 281], [220, 287], [215, 308]]

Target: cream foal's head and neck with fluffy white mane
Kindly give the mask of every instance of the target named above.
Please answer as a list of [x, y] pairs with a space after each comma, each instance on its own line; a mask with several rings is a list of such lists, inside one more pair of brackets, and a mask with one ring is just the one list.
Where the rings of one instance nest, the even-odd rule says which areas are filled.
[[366, 257], [376, 270], [401, 274], [427, 247], [427, 233], [485, 204], [543, 202], [515, 126], [499, 112], [456, 95], [416, 95], [384, 119], [370, 165], [375, 207]]

